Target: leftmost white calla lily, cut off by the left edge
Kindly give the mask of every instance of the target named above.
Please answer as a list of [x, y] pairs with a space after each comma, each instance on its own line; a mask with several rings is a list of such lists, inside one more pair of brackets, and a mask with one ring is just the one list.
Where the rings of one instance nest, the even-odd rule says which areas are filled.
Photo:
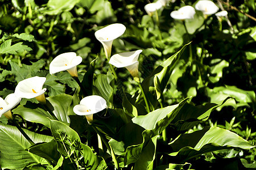
[[9, 94], [5, 97], [5, 100], [0, 97], [0, 117], [5, 115], [9, 120], [13, 119], [11, 115], [11, 109], [13, 109], [17, 104], [19, 104], [21, 98], [17, 97], [15, 94]]

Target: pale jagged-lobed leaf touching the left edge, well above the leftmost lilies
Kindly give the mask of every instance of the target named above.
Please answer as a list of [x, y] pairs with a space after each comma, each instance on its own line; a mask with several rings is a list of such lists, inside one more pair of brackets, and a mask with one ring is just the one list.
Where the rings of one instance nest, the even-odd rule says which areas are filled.
[[24, 52], [24, 50], [28, 52], [32, 50], [29, 46], [23, 45], [22, 43], [23, 42], [18, 42], [16, 44], [11, 45], [11, 39], [6, 40], [0, 46], [0, 54], [17, 54]]

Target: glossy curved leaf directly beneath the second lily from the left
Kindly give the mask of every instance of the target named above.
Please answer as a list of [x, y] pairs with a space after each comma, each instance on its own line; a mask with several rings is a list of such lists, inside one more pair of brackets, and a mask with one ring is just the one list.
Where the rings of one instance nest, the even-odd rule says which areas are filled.
[[13, 109], [13, 114], [19, 114], [25, 120], [30, 122], [35, 122], [39, 124], [43, 124], [47, 128], [49, 128], [49, 118], [53, 119], [51, 114], [44, 111], [41, 108], [27, 108], [23, 105], [19, 105], [16, 109]]

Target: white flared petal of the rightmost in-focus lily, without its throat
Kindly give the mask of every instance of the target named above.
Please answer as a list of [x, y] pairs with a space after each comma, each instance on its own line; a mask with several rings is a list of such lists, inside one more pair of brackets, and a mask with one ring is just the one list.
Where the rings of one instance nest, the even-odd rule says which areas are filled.
[[109, 60], [109, 63], [115, 67], [127, 67], [138, 62], [139, 54], [142, 50], [136, 50], [133, 52], [119, 53], [112, 56]]

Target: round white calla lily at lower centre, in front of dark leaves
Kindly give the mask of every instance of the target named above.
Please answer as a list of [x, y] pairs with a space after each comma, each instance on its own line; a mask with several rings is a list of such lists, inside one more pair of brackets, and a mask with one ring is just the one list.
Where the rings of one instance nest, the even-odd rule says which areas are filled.
[[101, 96], [92, 95], [84, 97], [80, 104], [75, 105], [73, 111], [80, 116], [85, 116], [89, 124], [93, 121], [93, 114], [106, 109], [106, 100]]

